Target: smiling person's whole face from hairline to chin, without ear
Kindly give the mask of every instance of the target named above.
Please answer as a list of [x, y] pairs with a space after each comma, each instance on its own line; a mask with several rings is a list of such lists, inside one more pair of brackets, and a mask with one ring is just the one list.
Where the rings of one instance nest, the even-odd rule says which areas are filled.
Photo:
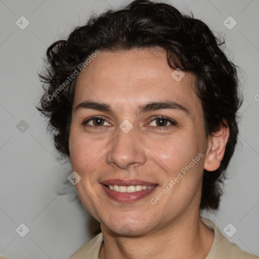
[[102, 51], [78, 75], [70, 158], [103, 230], [145, 235], [199, 210], [202, 108], [193, 76], [173, 71], [153, 48]]

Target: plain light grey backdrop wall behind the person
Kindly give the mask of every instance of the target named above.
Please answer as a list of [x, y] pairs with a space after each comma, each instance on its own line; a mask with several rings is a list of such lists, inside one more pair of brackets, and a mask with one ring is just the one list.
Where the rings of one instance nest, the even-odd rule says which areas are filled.
[[[223, 229], [233, 224], [237, 232], [228, 239], [245, 251], [259, 254], [259, 1], [167, 2], [182, 12], [191, 10], [195, 18], [223, 32], [227, 55], [245, 71], [241, 134], [228, 169], [229, 180], [220, 210], [204, 215], [223, 234]], [[87, 213], [74, 199], [74, 186], [65, 184], [70, 164], [58, 159], [44, 119], [34, 108], [42, 93], [37, 72], [52, 42], [82, 25], [93, 11], [99, 14], [128, 3], [0, 0], [1, 255], [66, 258], [89, 239]], [[30, 22], [24, 30], [16, 25], [21, 16]], [[237, 21], [231, 30], [223, 24], [228, 16]], [[21, 120], [29, 125], [24, 133], [16, 127]], [[30, 230], [23, 238], [15, 231], [21, 223]]]

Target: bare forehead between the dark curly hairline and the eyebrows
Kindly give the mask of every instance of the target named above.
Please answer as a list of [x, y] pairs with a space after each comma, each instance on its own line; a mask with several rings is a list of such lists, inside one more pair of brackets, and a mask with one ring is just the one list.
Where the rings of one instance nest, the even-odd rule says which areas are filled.
[[177, 81], [171, 75], [163, 49], [101, 51], [78, 75], [74, 105], [84, 100], [128, 109], [151, 101], [171, 100], [191, 109], [199, 108], [194, 77]]

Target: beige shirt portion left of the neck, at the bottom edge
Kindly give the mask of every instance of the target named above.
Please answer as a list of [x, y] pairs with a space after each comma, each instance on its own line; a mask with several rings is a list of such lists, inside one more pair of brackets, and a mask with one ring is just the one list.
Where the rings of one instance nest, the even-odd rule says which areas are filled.
[[98, 257], [102, 241], [103, 234], [99, 233], [93, 239], [91, 239], [78, 250], [76, 250], [72, 255], [70, 255], [68, 259], [87, 259]]

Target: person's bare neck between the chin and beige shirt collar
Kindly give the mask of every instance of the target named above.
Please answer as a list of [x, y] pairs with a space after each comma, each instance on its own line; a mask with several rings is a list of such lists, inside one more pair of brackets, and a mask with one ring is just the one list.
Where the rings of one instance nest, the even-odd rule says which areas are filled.
[[185, 213], [159, 231], [137, 237], [119, 236], [102, 225], [104, 242], [99, 258], [205, 258], [214, 234], [200, 220], [199, 211]]

